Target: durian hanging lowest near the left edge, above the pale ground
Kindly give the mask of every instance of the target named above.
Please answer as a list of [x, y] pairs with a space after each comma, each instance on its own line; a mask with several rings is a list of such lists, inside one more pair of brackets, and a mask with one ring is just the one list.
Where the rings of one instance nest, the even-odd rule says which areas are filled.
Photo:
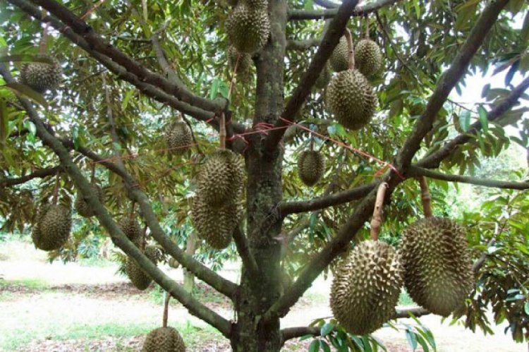
[[70, 236], [71, 212], [63, 205], [44, 205], [32, 231], [35, 247], [42, 250], [61, 248]]

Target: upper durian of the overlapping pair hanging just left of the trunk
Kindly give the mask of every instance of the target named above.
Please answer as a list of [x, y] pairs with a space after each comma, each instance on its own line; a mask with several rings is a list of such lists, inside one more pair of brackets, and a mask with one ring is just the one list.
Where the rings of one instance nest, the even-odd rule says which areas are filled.
[[241, 193], [243, 180], [241, 157], [231, 150], [215, 150], [202, 164], [197, 178], [200, 198], [212, 208], [232, 204]]

